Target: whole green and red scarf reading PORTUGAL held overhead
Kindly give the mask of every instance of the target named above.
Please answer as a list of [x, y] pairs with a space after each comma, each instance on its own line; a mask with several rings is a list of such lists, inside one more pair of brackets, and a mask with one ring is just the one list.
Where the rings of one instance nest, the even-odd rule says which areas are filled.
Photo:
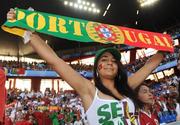
[[23, 36], [24, 29], [78, 42], [126, 44], [173, 52], [170, 35], [16, 8], [17, 19], [2, 29]]

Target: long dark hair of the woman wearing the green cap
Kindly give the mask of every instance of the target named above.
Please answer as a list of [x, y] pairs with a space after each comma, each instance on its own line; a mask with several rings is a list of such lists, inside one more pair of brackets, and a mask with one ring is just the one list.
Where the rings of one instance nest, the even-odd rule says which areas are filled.
[[[117, 91], [121, 95], [131, 98], [133, 100], [133, 102], [135, 102], [135, 105], [136, 105], [136, 98], [134, 97], [134, 91], [128, 85], [127, 72], [120, 61], [116, 60], [116, 63], [118, 66], [118, 73], [115, 77], [114, 87], [117, 89]], [[110, 96], [114, 97], [115, 99], [118, 99], [116, 96], [114, 96], [112, 94], [112, 92], [109, 89], [107, 89], [102, 84], [102, 81], [98, 75], [97, 69], [98, 69], [98, 61], [95, 62], [94, 69], [93, 69], [95, 86], [104, 94], [110, 95]]]

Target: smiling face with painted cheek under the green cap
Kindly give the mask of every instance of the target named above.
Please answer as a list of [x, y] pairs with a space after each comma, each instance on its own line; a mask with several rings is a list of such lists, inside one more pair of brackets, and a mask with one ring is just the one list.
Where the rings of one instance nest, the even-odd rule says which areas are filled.
[[97, 72], [101, 78], [114, 79], [118, 72], [118, 66], [114, 56], [105, 52], [99, 59]]

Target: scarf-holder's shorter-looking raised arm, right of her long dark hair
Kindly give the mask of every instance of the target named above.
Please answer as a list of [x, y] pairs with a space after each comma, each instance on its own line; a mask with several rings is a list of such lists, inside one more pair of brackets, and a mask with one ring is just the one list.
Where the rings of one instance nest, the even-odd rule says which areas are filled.
[[163, 54], [160, 52], [157, 52], [154, 56], [152, 56], [141, 69], [139, 69], [132, 76], [128, 77], [129, 86], [132, 89], [135, 89], [137, 86], [143, 83], [151, 72], [160, 64], [163, 58]]

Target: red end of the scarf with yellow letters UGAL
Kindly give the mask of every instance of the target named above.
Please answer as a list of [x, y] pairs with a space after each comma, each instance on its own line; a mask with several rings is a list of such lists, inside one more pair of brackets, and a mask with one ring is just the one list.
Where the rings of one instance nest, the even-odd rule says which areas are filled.
[[148, 32], [143, 30], [120, 27], [125, 44], [157, 50], [174, 51], [172, 38], [168, 34]]

